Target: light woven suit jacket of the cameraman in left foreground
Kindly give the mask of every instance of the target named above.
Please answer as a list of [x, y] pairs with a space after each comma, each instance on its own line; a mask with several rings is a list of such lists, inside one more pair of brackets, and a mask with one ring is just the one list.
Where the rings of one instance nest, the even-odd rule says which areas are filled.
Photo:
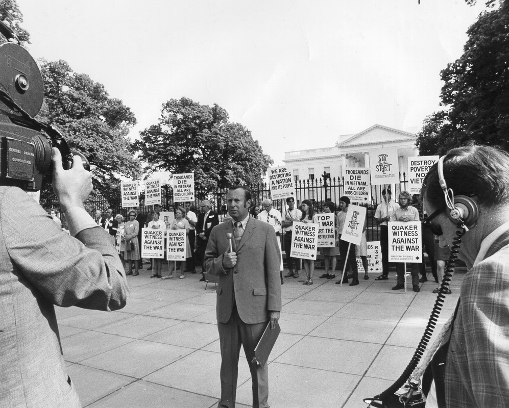
[[[76, 239], [77, 238], [77, 239]], [[22, 190], [0, 187], [0, 406], [75, 408], [54, 304], [124, 307], [122, 263], [101, 227], [62, 232]]]

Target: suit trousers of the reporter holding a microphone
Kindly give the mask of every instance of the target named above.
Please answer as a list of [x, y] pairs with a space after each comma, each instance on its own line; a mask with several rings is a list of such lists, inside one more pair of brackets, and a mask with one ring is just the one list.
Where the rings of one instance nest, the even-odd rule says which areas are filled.
[[221, 399], [218, 408], [234, 408], [237, 392], [238, 357], [240, 345], [251, 371], [253, 382], [253, 408], [268, 408], [269, 398], [269, 365], [260, 367], [252, 363], [254, 349], [260, 340], [268, 322], [247, 324], [237, 312], [237, 305], [233, 303], [232, 315], [227, 323], [217, 322], [219, 340], [221, 344]]

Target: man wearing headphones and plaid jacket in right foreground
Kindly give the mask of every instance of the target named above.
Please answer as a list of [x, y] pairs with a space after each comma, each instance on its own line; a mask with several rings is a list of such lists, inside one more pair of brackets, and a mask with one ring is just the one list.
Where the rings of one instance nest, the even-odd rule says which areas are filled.
[[459, 258], [469, 269], [449, 331], [424, 375], [426, 407], [506, 406], [509, 155], [488, 146], [450, 150], [429, 170], [421, 197], [435, 234], [450, 245], [464, 234]]

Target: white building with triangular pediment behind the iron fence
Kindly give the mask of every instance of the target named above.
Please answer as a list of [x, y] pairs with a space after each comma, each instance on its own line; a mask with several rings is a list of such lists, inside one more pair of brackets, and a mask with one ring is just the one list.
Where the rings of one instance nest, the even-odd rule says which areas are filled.
[[342, 135], [335, 146], [287, 151], [283, 162], [296, 180], [320, 179], [324, 172], [341, 177], [345, 167], [369, 167], [370, 151], [396, 148], [400, 173], [407, 172], [408, 157], [419, 156], [416, 135], [375, 124], [354, 135]]

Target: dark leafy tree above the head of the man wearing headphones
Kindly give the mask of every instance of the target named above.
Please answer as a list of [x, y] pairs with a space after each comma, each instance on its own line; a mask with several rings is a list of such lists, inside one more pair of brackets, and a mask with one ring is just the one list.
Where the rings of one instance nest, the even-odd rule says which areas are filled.
[[509, 150], [509, 3], [481, 13], [467, 33], [463, 55], [441, 72], [447, 109], [428, 117], [418, 134], [422, 155], [470, 141]]

